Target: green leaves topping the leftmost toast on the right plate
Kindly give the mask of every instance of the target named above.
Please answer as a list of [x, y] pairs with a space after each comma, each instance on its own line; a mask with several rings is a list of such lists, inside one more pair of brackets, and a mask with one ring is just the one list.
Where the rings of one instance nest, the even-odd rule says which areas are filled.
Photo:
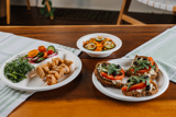
[[121, 71], [121, 68], [118, 69], [117, 65], [114, 65], [114, 63], [110, 63], [106, 67], [102, 67], [102, 69], [107, 69], [108, 75], [112, 74], [112, 72], [117, 72], [117, 74], [119, 74], [120, 73], [119, 71]]

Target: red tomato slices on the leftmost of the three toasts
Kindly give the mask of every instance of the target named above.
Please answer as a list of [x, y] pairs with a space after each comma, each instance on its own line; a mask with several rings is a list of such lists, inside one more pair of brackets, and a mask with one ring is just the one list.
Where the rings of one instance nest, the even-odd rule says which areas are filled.
[[124, 70], [122, 69], [120, 72], [122, 72], [123, 74], [122, 75], [118, 74], [117, 77], [113, 77], [112, 74], [108, 75], [108, 73], [101, 72], [101, 75], [110, 80], [121, 80], [124, 78]]

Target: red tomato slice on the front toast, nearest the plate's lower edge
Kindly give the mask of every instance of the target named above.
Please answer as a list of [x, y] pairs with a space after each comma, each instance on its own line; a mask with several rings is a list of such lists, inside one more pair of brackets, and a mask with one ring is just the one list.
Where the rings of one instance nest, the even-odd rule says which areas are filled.
[[128, 86], [127, 86], [127, 85], [123, 86], [123, 87], [121, 87], [121, 90], [122, 90], [122, 91], [133, 91], [133, 90], [143, 89], [143, 87], [145, 87], [145, 86], [146, 86], [146, 83], [141, 82], [141, 83], [139, 83], [139, 84], [132, 85], [129, 90], [128, 90]]

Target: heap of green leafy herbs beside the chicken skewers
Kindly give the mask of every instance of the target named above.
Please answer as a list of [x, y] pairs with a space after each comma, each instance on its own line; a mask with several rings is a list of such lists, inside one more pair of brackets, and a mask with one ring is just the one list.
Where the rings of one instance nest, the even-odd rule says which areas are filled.
[[18, 57], [15, 60], [12, 60], [12, 62], [8, 62], [4, 67], [4, 75], [14, 83], [26, 79], [25, 74], [34, 69], [28, 61], [29, 60], [23, 59], [23, 57]]

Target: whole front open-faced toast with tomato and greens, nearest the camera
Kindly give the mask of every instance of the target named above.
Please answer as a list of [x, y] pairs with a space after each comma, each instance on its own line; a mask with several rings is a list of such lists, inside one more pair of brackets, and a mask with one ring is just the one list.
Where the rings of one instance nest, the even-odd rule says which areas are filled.
[[150, 96], [158, 92], [157, 85], [148, 75], [131, 75], [124, 86], [121, 87], [125, 96]]

